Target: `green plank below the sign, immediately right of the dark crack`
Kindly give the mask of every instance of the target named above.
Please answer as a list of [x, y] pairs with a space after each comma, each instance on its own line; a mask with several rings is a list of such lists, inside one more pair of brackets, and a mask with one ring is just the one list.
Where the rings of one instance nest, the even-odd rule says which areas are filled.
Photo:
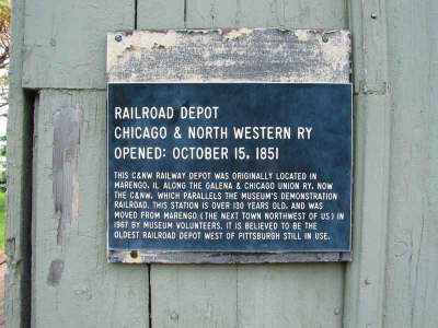
[[152, 266], [152, 327], [237, 327], [235, 266]]

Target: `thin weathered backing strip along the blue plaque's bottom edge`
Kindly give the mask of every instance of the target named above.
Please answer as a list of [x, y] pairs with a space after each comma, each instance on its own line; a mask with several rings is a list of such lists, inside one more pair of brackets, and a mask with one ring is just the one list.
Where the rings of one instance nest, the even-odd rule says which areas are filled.
[[351, 251], [219, 253], [108, 250], [108, 262], [122, 263], [288, 263], [351, 261]]

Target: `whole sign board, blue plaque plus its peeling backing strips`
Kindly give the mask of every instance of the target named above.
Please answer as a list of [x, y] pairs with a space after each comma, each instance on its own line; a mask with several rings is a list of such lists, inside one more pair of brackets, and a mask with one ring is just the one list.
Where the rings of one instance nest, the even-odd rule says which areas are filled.
[[348, 31], [110, 33], [108, 260], [350, 260]]

